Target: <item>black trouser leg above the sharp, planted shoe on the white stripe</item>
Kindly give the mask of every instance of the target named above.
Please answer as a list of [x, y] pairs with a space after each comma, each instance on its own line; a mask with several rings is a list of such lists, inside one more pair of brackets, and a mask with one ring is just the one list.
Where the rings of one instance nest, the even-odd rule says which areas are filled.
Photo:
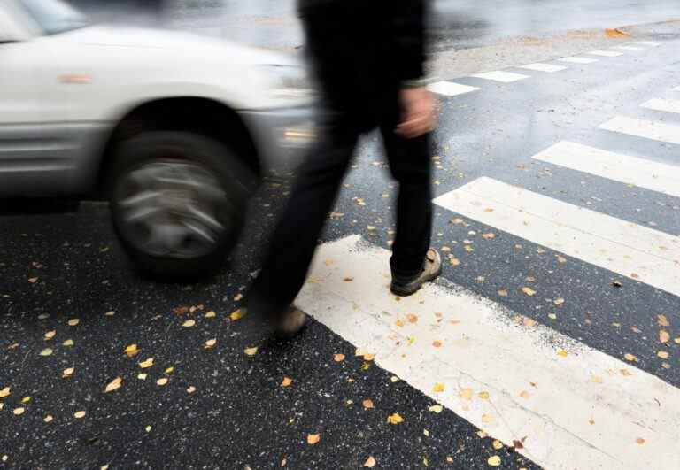
[[390, 171], [399, 183], [397, 236], [392, 246], [392, 274], [411, 278], [421, 273], [432, 233], [430, 135], [406, 139], [394, 133], [396, 119], [381, 126]]

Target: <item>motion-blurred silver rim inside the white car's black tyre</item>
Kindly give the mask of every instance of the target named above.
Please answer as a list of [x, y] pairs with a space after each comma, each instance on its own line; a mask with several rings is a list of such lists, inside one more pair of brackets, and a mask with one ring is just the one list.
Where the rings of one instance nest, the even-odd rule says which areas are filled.
[[195, 162], [137, 166], [120, 178], [114, 194], [122, 235], [151, 256], [204, 257], [233, 229], [225, 190], [210, 169]]

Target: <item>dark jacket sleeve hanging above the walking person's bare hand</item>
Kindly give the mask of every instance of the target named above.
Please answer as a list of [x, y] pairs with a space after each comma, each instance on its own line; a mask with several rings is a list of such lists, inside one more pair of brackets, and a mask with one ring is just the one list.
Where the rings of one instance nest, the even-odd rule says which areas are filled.
[[428, 3], [429, 0], [394, 0], [391, 3], [394, 64], [400, 81], [418, 80], [425, 73]]

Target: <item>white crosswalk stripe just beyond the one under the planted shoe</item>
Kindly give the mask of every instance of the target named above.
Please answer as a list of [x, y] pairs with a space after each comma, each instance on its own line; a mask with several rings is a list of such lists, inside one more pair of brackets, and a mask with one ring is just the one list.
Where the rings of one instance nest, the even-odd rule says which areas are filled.
[[680, 296], [680, 237], [479, 178], [435, 204]]

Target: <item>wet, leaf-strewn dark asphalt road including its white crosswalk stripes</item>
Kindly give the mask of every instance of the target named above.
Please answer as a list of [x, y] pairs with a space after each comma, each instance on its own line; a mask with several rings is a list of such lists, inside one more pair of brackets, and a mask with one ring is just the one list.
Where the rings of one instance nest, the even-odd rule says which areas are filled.
[[0, 467], [680, 466], [680, 27], [645, 31], [431, 85], [445, 266], [409, 299], [367, 136], [289, 344], [232, 315], [284, 175], [196, 285], [136, 276], [104, 205], [5, 204]]

